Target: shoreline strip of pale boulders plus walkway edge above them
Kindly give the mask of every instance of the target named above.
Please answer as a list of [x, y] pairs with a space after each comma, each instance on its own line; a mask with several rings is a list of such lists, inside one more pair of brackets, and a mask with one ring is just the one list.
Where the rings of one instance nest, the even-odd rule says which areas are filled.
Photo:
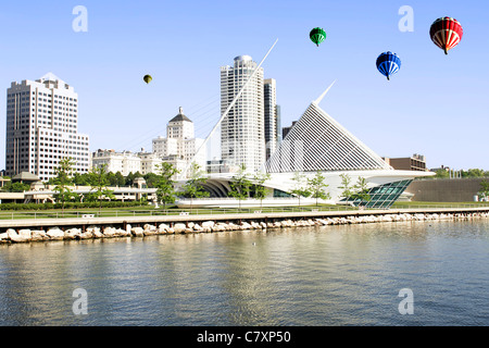
[[[251, 215], [251, 216], [250, 216]], [[262, 216], [264, 215], [264, 216]], [[285, 214], [283, 214], [285, 215]], [[301, 213], [293, 216], [272, 216], [271, 214], [233, 214], [226, 216], [209, 215], [187, 215], [172, 216], [163, 221], [147, 221], [149, 216], [138, 216], [138, 219], [124, 219], [113, 221], [113, 219], [102, 217], [96, 221], [78, 221], [77, 226], [72, 226], [72, 221], [59, 219], [55, 221], [32, 221], [32, 227], [27, 228], [26, 222], [20, 222], [20, 227], [4, 227], [5, 232], [0, 233], [0, 245], [17, 243], [36, 243], [51, 240], [84, 240], [101, 238], [141, 238], [153, 235], [172, 234], [198, 234], [217, 233], [231, 231], [250, 229], [274, 229], [290, 227], [311, 227], [327, 225], [365, 224], [383, 222], [409, 222], [409, 221], [459, 221], [489, 217], [489, 209], [469, 209], [466, 211], [443, 211], [436, 212], [399, 212], [399, 211], [344, 211], [330, 214]], [[178, 219], [175, 219], [178, 217]], [[216, 219], [217, 217], [217, 219]], [[74, 219], [72, 219], [74, 220]], [[77, 219], [79, 220], [79, 219]], [[154, 220], [154, 219], [153, 219]], [[158, 219], [161, 220], [161, 219]], [[2, 222], [4, 225], [4, 222]], [[62, 227], [60, 227], [62, 226]]]

